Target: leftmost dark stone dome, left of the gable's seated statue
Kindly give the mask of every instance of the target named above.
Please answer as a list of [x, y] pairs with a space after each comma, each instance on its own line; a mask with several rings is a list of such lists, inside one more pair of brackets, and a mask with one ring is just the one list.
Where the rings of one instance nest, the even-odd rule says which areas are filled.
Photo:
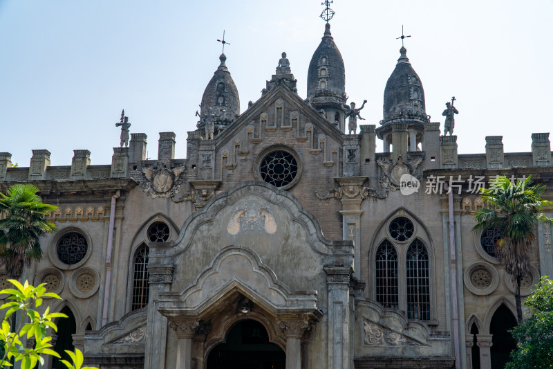
[[[236, 84], [225, 64], [227, 56], [221, 54], [219, 60], [221, 60], [221, 64], [203, 91], [198, 129], [204, 129], [205, 118], [209, 114], [215, 115], [216, 132], [232, 123], [236, 116], [240, 115], [238, 89], [236, 89]], [[211, 113], [209, 108], [212, 109]]]

